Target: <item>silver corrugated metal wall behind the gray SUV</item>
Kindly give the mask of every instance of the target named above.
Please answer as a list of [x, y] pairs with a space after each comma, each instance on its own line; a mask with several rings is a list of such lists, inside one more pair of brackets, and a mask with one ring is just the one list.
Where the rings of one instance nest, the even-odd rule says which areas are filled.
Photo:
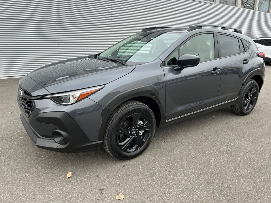
[[193, 0], [0, 0], [0, 77], [101, 52], [151, 26], [199, 23], [270, 36], [271, 14]]

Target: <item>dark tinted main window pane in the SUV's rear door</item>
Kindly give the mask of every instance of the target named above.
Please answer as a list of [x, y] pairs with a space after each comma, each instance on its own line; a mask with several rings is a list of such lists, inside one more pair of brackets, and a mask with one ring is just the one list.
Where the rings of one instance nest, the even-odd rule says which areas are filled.
[[219, 34], [219, 45], [221, 48], [221, 57], [240, 54], [239, 42], [235, 37]]

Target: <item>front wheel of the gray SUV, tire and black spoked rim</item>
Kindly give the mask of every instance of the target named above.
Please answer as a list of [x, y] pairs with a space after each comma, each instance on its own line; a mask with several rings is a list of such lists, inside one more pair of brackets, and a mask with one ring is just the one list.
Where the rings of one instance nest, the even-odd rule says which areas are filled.
[[127, 101], [109, 117], [103, 148], [119, 160], [132, 159], [150, 145], [155, 132], [153, 111], [138, 101]]

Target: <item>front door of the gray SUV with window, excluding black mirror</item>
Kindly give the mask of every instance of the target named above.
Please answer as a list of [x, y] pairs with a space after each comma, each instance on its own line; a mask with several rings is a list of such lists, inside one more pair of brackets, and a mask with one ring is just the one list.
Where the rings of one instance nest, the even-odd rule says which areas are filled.
[[[200, 56], [195, 67], [175, 71], [182, 54]], [[165, 61], [166, 119], [171, 119], [214, 105], [220, 83], [221, 63], [216, 57], [214, 33], [188, 39]]]

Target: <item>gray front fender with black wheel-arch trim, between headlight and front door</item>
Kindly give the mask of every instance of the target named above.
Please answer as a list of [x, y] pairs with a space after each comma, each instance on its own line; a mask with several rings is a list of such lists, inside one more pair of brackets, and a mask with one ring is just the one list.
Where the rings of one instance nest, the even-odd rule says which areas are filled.
[[[160, 110], [162, 122], [165, 120], [165, 75], [159, 64], [161, 60], [138, 65], [131, 73], [105, 85], [103, 89], [89, 96], [89, 99], [113, 112], [123, 102], [135, 97], [152, 99]], [[110, 116], [108, 116], [109, 118]], [[108, 121], [103, 117], [99, 139], [103, 139]]]

